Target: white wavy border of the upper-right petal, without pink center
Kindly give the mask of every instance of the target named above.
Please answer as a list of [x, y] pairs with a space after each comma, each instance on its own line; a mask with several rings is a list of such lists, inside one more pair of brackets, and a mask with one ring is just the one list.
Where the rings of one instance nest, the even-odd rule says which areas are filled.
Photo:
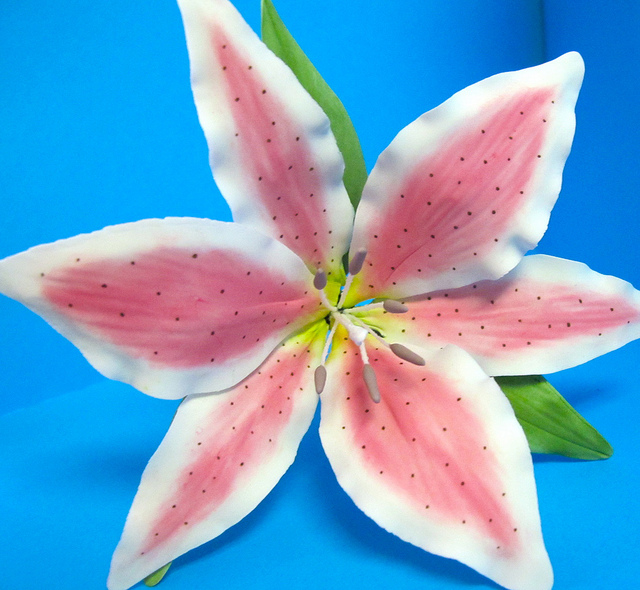
[[416, 274], [403, 280], [394, 296], [412, 296], [438, 289], [449, 289], [484, 279], [496, 279], [513, 269], [524, 254], [534, 248], [549, 223], [549, 217], [562, 185], [565, 160], [571, 150], [575, 131], [574, 107], [584, 76], [584, 62], [576, 52], [531, 68], [497, 74], [473, 84], [428, 111], [405, 127], [380, 155], [365, 185], [358, 206], [350, 255], [367, 248], [376, 210], [384, 209], [393, 196], [399, 179], [411, 174], [429, 154], [436, 153], [442, 141], [455, 134], [469, 117], [479, 114], [495, 96], [508, 94], [510, 88], [557, 87], [554, 122], [544, 143], [545, 157], [537, 166], [529, 191], [535, 195], [514, 217], [510, 231], [483, 260], [457, 265], [455, 272], [440, 274], [425, 281]]

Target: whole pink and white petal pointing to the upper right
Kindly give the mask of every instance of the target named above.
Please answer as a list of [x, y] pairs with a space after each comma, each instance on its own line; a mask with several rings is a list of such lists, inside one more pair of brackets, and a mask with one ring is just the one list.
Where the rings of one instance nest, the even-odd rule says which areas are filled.
[[560, 191], [583, 71], [568, 53], [487, 78], [398, 134], [356, 215], [351, 252], [368, 251], [361, 299], [461, 287], [516, 266]]

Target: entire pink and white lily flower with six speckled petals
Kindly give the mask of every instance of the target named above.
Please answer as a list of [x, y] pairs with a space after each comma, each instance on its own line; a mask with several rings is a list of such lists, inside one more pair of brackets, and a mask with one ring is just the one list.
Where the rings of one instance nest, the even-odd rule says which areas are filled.
[[108, 587], [253, 510], [321, 400], [338, 481], [380, 526], [506, 588], [550, 588], [531, 453], [491, 376], [558, 371], [640, 336], [628, 283], [524, 256], [560, 190], [580, 56], [493, 76], [421, 116], [354, 213], [329, 121], [293, 73], [227, 0], [179, 4], [235, 222], [144, 220], [0, 261], [0, 290], [101, 373], [185, 398]]

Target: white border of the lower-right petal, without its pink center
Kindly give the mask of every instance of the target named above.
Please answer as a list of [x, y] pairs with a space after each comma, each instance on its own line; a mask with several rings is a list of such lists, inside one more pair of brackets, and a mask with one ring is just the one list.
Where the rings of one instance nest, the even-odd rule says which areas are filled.
[[[340, 412], [339, 401], [344, 397], [339, 387], [341, 371], [339, 367], [331, 371], [329, 362], [330, 374], [322, 394], [320, 437], [339, 484], [365, 514], [404, 541], [457, 559], [510, 590], [549, 590], [553, 572], [540, 530], [531, 453], [511, 405], [496, 382], [461, 349], [447, 346], [435, 352], [416, 350], [426, 359], [427, 367], [437, 366], [465, 400], [474, 403], [482, 423], [490, 425], [487, 446], [499, 449], [500, 461], [510, 467], [508, 499], [511, 513], [517, 515], [518, 530], [527, 536], [528, 553], [514, 561], [491, 559], [487, 556], [485, 539], [477, 535], [461, 536], [462, 528], [449, 530], [419, 518], [413, 505], [398, 501], [392, 490], [381, 486], [380, 480], [354, 459], [355, 453], [345, 444], [342, 427], [346, 418]], [[382, 392], [385, 394], [394, 392]]]

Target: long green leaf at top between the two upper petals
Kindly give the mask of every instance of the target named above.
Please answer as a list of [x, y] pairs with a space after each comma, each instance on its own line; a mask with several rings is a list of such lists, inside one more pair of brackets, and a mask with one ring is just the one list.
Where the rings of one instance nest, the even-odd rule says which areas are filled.
[[357, 208], [367, 180], [367, 168], [356, 130], [344, 105], [284, 26], [271, 0], [262, 0], [262, 40], [291, 68], [300, 84], [329, 117], [345, 162], [344, 185], [354, 209]]

